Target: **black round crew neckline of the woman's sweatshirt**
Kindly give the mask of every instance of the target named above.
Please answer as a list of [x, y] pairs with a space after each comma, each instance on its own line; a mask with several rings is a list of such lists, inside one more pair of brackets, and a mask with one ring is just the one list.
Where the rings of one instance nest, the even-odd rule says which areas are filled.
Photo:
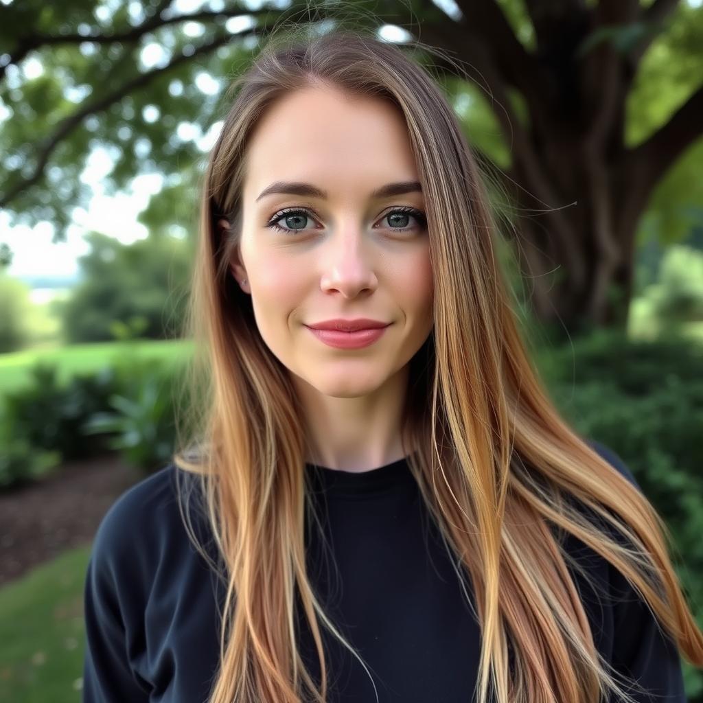
[[373, 496], [417, 485], [407, 456], [364, 471], [333, 469], [313, 463], [306, 463], [305, 467], [314, 478], [316, 488], [331, 496]]

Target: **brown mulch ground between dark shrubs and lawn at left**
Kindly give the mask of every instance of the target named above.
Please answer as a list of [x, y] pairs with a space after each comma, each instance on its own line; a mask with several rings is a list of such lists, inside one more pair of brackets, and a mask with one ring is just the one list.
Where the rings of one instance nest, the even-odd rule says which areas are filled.
[[116, 498], [140, 475], [117, 454], [65, 463], [0, 494], [0, 586], [64, 550], [93, 541]]

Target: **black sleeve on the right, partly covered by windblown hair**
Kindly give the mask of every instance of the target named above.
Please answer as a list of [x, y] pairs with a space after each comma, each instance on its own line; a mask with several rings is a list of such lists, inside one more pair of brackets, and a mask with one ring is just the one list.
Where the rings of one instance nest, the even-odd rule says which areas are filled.
[[[631, 470], [612, 449], [596, 442], [593, 447], [642, 491]], [[625, 576], [612, 565], [609, 571], [614, 632], [611, 664], [644, 690], [633, 688], [628, 693], [638, 703], [688, 703], [676, 643], [659, 626], [650, 607]]]

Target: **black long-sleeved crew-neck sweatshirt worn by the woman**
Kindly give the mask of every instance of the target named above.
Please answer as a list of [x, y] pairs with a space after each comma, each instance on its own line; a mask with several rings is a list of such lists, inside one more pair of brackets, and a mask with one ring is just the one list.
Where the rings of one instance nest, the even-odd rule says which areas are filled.
[[[638, 486], [617, 455], [593, 446]], [[224, 586], [183, 527], [176, 470], [168, 465], [128, 489], [96, 533], [84, 593], [83, 703], [207, 701]], [[332, 669], [328, 701], [373, 703], [378, 693], [380, 703], [470, 703], [481, 635], [406, 460], [359, 473], [311, 464], [306, 470], [313, 495], [326, 497], [316, 505], [323, 506], [325, 549], [337, 567], [321, 558], [318, 531], [307, 529], [311, 579], [373, 677], [322, 628]], [[205, 517], [199, 524], [201, 538], [212, 536]], [[605, 588], [597, 597], [574, 574], [599, 652], [652, 701], [685, 703], [681, 659], [652, 612], [602, 557], [572, 536], [567, 544]], [[319, 681], [313, 640], [301, 622], [302, 656]]]

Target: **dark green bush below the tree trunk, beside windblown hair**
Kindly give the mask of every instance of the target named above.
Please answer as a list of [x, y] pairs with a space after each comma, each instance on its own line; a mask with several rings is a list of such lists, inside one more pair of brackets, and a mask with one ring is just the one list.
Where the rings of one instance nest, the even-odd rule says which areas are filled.
[[[545, 351], [540, 366], [572, 425], [631, 468], [671, 531], [690, 602], [703, 604], [703, 349], [599, 333]], [[703, 691], [703, 674], [684, 669], [687, 690]]]

